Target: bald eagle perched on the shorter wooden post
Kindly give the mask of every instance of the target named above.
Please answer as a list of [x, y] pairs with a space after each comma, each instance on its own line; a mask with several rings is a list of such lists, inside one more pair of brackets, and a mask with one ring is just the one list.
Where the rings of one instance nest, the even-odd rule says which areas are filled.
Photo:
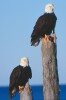
[[27, 58], [21, 58], [20, 65], [15, 67], [10, 75], [9, 91], [10, 98], [14, 97], [19, 91], [19, 86], [25, 87], [29, 78], [32, 78], [31, 68]]

